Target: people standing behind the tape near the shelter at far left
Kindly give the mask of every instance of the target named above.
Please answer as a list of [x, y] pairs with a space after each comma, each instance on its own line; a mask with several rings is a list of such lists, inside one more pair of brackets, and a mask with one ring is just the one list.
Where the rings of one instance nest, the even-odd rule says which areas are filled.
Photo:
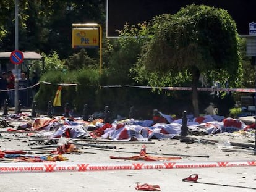
[[[36, 92], [39, 90], [38, 74], [33, 71], [32, 78], [29, 80], [27, 74], [22, 72], [19, 79], [19, 100], [22, 106], [29, 106], [30, 91], [29, 86], [32, 86], [32, 98], [34, 98]], [[14, 107], [14, 94], [15, 94], [15, 75], [9, 70], [7, 73], [3, 72], [0, 78], [0, 109], [4, 106], [4, 102], [8, 101], [9, 107]]]

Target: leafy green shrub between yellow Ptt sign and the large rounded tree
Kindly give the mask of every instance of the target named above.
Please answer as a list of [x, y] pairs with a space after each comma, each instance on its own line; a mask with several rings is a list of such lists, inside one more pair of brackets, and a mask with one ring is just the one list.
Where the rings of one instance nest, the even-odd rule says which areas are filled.
[[137, 26], [129, 26], [126, 23], [124, 29], [119, 30], [119, 38], [111, 41], [106, 49], [109, 54], [108, 83], [118, 85], [134, 83], [130, 68], [136, 64], [142, 45], [148, 38], [150, 34], [146, 23]]

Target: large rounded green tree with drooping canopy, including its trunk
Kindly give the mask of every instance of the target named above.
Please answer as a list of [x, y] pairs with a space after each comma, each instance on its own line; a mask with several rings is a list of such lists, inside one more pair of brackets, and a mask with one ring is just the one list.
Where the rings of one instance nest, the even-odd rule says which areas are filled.
[[194, 115], [199, 115], [200, 73], [223, 83], [228, 79], [231, 86], [241, 78], [236, 23], [226, 10], [192, 4], [175, 15], [155, 17], [151, 30], [154, 36], [143, 47], [135, 71], [158, 85], [191, 77]]

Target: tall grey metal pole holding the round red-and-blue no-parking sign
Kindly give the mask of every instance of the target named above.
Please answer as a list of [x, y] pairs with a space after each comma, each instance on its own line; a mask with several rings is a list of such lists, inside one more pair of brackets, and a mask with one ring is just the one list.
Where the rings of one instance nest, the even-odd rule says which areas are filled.
[[[15, 50], [19, 50], [19, 0], [15, 0]], [[19, 80], [18, 80], [18, 67], [19, 65], [15, 65], [15, 82], [14, 82], [14, 107], [15, 107], [15, 114], [18, 113], [18, 106], [19, 106]]]

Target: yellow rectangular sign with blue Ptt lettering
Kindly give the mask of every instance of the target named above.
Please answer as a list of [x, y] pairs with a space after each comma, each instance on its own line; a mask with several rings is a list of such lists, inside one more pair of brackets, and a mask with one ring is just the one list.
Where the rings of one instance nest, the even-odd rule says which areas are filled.
[[99, 44], [98, 28], [72, 29], [72, 48], [98, 48]]

